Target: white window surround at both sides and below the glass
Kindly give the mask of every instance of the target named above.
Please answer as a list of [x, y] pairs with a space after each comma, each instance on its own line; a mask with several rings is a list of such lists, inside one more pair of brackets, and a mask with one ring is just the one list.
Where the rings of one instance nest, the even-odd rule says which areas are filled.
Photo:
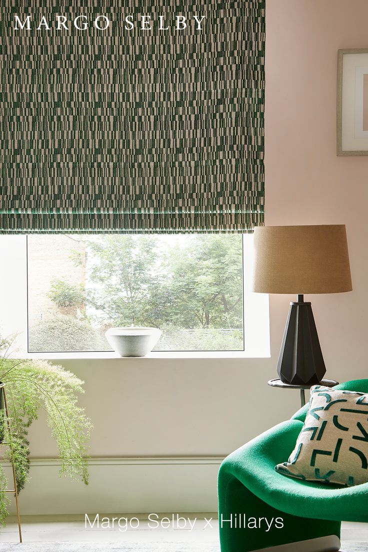
[[[7, 317], [8, 333], [22, 328], [13, 357], [42, 359], [121, 358], [115, 352], [28, 353], [28, 298], [26, 236], [0, 236], [0, 320]], [[153, 351], [150, 358], [269, 358], [269, 297], [252, 293], [253, 235], [243, 235], [244, 351]], [[7, 267], [10, 267], [7, 269]], [[2, 328], [3, 329], [3, 328]], [[15, 350], [17, 349], [17, 350]], [[142, 358], [142, 357], [138, 357]], [[124, 358], [122, 358], [124, 360]]]

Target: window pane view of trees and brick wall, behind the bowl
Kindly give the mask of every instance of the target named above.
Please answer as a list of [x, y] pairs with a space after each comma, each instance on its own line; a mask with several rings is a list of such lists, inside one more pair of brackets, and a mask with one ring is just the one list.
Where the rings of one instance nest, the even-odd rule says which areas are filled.
[[28, 236], [29, 351], [104, 351], [113, 326], [157, 351], [243, 350], [241, 235]]

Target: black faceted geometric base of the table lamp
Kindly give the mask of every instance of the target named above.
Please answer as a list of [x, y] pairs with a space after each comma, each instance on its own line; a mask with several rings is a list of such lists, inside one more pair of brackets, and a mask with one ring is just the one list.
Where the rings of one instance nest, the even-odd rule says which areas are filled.
[[317, 384], [326, 374], [312, 306], [303, 295], [290, 303], [277, 370], [281, 381], [295, 385]]

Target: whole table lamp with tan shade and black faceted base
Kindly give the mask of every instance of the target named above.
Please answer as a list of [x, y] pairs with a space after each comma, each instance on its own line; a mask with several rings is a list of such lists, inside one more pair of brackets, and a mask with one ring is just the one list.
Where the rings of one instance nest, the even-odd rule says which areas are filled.
[[295, 385], [319, 383], [326, 367], [304, 294], [353, 289], [345, 225], [259, 226], [254, 246], [253, 291], [297, 294], [282, 338], [279, 378]]

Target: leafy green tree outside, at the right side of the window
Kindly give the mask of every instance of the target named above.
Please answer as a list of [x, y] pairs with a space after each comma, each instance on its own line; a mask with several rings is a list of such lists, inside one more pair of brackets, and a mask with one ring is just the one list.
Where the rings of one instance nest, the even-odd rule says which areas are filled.
[[168, 251], [172, 308], [164, 322], [182, 328], [242, 327], [241, 236], [191, 236], [185, 251]]

